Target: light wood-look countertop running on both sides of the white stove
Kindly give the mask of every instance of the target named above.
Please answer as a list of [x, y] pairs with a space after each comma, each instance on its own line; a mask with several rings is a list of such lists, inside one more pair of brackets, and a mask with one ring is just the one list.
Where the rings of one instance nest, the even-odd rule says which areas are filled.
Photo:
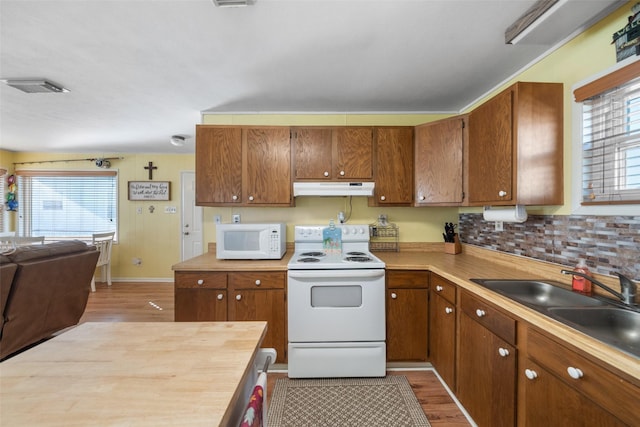
[[[386, 264], [387, 270], [429, 270], [457, 284], [459, 288], [480, 296], [516, 319], [553, 334], [559, 340], [582, 350], [588, 357], [603, 362], [611, 371], [640, 386], [640, 360], [612, 346], [591, 338], [550, 317], [530, 309], [512, 299], [490, 291], [474, 282], [472, 278], [485, 279], [543, 279], [559, 282], [571, 287], [571, 277], [560, 273], [559, 264], [533, 260], [531, 258], [504, 254], [471, 245], [462, 245], [463, 252], [457, 255], [444, 253], [440, 245], [427, 245], [426, 250], [403, 252], [375, 252]], [[277, 261], [227, 261], [218, 260], [215, 253], [207, 253], [173, 266], [174, 271], [286, 271], [293, 251], [288, 250], [283, 259]], [[613, 289], [619, 290], [617, 280], [596, 275]], [[596, 292], [600, 293], [597, 288]], [[602, 291], [604, 292], [604, 291]], [[608, 296], [606, 293], [602, 295]]]

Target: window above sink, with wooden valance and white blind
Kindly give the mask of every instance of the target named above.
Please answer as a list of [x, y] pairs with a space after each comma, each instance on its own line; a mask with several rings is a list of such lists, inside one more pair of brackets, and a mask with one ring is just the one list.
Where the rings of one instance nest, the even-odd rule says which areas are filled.
[[640, 62], [619, 67], [574, 94], [581, 103], [574, 143], [579, 162], [573, 165], [579, 199], [574, 204], [640, 203]]

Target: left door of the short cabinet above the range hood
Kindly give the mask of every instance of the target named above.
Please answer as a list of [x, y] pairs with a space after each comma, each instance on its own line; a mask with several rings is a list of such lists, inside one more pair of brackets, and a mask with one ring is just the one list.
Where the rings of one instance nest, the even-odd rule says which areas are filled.
[[332, 178], [330, 128], [293, 128], [291, 140], [295, 180]]

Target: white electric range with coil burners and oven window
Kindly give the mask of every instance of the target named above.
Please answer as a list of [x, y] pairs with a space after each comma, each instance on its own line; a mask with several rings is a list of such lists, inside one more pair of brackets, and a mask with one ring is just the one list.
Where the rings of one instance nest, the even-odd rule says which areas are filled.
[[342, 250], [324, 250], [327, 226], [296, 226], [288, 264], [288, 375], [386, 374], [385, 264], [369, 251], [369, 226], [336, 224]]

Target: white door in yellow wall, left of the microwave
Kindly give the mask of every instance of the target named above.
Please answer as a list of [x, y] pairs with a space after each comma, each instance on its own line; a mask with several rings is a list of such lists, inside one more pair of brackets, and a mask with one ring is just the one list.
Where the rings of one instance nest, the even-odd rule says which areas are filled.
[[182, 248], [180, 255], [182, 261], [202, 255], [203, 251], [203, 216], [202, 207], [196, 206], [196, 174], [195, 172], [182, 172], [180, 174], [182, 185]]

